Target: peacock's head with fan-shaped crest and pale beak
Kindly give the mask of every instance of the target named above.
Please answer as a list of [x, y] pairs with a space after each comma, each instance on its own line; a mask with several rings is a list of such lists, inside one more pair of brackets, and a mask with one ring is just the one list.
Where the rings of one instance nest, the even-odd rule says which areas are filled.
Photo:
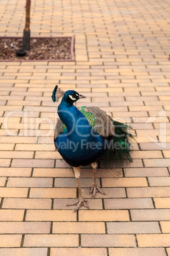
[[58, 85], [56, 85], [51, 98], [55, 103], [60, 97], [63, 97], [63, 100], [69, 104], [75, 103], [75, 101], [77, 101], [78, 99], [86, 98], [78, 92], [75, 92], [75, 90], [67, 90], [67, 92], [64, 92], [63, 90], [58, 88]]

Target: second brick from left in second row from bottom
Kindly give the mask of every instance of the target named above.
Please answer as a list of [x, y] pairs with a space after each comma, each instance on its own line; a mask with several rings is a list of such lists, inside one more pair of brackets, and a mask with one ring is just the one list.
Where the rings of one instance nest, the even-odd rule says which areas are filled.
[[29, 247], [77, 247], [79, 236], [77, 234], [27, 234], [23, 246]]

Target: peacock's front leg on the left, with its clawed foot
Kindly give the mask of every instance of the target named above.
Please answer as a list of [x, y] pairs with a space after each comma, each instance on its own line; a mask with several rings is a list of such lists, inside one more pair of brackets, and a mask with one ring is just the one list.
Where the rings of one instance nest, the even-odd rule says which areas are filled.
[[79, 208], [81, 208], [81, 206], [84, 206], [86, 208], [89, 209], [89, 206], [86, 204], [87, 200], [84, 199], [82, 197], [82, 192], [81, 192], [81, 179], [80, 179], [80, 176], [81, 176], [81, 169], [80, 167], [73, 167], [74, 169], [74, 173], [75, 173], [75, 178], [77, 178], [77, 187], [78, 187], [78, 194], [79, 194], [79, 197], [78, 197], [78, 200], [75, 201], [73, 204], [66, 204], [66, 206], [72, 206], [72, 205], [77, 205], [75, 207], [75, 211], [79, 210]]

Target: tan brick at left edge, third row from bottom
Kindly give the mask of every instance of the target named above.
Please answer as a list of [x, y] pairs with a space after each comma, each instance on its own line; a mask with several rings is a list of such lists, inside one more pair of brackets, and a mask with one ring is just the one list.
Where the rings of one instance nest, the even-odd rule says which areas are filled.
[[1, 234], [48, 234], [50, 222], [0, 222]]

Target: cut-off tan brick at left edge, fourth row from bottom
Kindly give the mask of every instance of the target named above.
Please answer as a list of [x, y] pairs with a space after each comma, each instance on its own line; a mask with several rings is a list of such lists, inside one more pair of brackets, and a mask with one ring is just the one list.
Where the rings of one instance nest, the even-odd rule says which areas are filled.
[[24, 210], [4, 210], [0, 211], [0, 221], [22, 221]]

